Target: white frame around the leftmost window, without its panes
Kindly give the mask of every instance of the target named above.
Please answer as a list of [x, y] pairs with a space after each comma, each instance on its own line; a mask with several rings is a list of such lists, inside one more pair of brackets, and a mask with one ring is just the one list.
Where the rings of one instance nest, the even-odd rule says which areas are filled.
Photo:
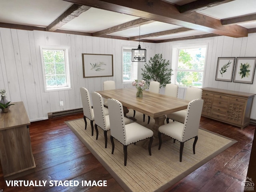
[[[64, 51], [67, 86], [54, 87], [54, 88], [47, 88], [46, 87], [43, 50], [63, 50]], [[52, 91], [71, 90], [70, 70], [69, 70], [69, 62], [68, 62], [68, 48], [67, 47], [57, 47], [57, 46], [40, 46], [40, 53], [41, 53], [41, 64], [42, 64], [42, 72], [43, 72], [43, 79], [44, 79], [44, 91], [45, 92], [52, 92]]]

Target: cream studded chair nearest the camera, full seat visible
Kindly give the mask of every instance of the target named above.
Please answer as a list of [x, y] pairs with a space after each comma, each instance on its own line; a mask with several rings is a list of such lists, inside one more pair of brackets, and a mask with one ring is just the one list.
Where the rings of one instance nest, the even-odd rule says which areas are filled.
[[124, 124], [124, 110], [122, 103], [115, 99], [108, 99], [108, 110], [110, 120], [110, 140], [112, 144], [112, 154], [114, 154], [114, 138], [124, 146], [124, 166], [127, 163], [127, 146], [140, 140], [150, 138], [148, 152], [151, 156], [151, 146], [153, 142], [153, 131], [136, 123]]

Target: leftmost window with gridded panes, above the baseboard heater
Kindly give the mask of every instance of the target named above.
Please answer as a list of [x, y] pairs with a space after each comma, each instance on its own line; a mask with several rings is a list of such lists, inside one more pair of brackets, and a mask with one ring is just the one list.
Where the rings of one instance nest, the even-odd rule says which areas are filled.
[[45, 91], [70, 89], [66, 49], [41, 48]]

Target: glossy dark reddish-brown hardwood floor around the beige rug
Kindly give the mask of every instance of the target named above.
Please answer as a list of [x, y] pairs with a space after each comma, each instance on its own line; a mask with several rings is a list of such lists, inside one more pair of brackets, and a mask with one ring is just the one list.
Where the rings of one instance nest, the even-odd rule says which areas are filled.
[[[107, 187], [7, 187], [0, 167], [0, 189], [4, 192], [123, 191], [64, 123], [82, 117], [81, 113], [32, 122], [30, 136], [36, 168], [33, 173], [15, 180], [107, 180]], [[241, 184], [246, 179], [255, 125], [250, 124], [240, 130], [238, 127], [202, 117], [200, 127], [238, 142], [165, 192], [242, 191]]]

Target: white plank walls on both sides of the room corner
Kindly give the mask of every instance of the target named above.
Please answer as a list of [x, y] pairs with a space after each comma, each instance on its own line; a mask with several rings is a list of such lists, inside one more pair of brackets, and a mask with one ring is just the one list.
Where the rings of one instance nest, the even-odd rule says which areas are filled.
[[[249, 34], [245, 38], [218, 36], [159, 44], [141, 43], [141, 46], [147, 49], [147, 60], [154, 54], [162, 53], [163, 58], [172, 63], [173, 48], [198, 43], [208, 44], [204, 87], [256, 93], [256, 80], [254, 84], [215, 81], [218, 57], [256, 56], [254, 48], [256, 34]], [[40, 55], [40, 46], [44, 45], [68, 47], [72, 90], [44, 92]], [[93, 92], [102, 90], [103, 81], [114, 80], [116, 88], [130, 87], [130, 83], [123, 84], [121, 79], [122, 48], [137, 48], [137, 46], [138, 42], [125, 40], [0, 28], [0, 89], [6, 89], [9, 101], [24, 102], [30, 121], [47, 119], [48, 112], [81, 108], [79, 92], [81, 86]], [[82, 53], [113, 54], [114, 76], [83, 78]], [[143, 68], [143, 63], [139, 63], [140, 68]], [[138, 74], [141, 74], [141, 71]], [[138, 79], [141, 79], [141, 75]], [[163, 93], [164, 89], [160, 92]], [[185, 90], [181, 88], [180, 98], [184, 96], [184, 92]], [[64, 106], [59, 106], [60, 101], [64, 102]], [[250, 118], [256, 119], [255, 99]]]

